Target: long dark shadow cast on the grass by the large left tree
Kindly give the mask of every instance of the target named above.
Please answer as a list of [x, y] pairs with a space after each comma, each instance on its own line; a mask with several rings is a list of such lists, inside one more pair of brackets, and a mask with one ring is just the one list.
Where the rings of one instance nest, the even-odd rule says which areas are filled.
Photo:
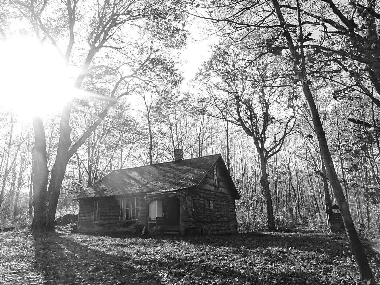
[[34, 233], [35, 269], [44, 284], [160, 284], [131, 256], [105, 253], [58, 233]]

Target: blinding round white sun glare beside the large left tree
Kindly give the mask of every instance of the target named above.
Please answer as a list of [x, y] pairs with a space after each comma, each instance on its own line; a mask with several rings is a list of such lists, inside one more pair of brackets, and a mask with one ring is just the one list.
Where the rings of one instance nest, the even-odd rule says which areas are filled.
[[0, 99], [21, 116], [60, 112], [73, 96], [69, 68], [53, 47], [30, 38], [0, 43]]

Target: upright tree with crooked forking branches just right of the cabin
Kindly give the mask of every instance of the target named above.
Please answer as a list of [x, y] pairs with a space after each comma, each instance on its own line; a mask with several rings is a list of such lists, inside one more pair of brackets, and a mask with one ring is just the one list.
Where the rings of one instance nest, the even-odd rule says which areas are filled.
[[[252, 41], [252, 38], [247, 37], [245, 41]], [[245, 41], [241, 46], [231, 43], [225, 49], [215, 51], [199, 78], [203, 79], [210, 95], [205, 101], [218, 111], [213, 115], [238, 125], [253, 138], [261, 163], [260, 183], [266, 199], [268, 229], [275, 230], [267, 163], [292, 133], [296, 106], [291, 95], [285, 99], [288, 108], [279, 105], [283, 101], [283, 92], [291, 92], [291, 89], [284, 89], [287, 84], [281, 84], [286, 76], [281, 74], [273, 57], [251, 63], [249, 54], [244, 53], [247, 51]], [[244, 60], [236, 60], [238, 57]], [[277, 130], [272, 136], [268, 132], [270, 126], [276, 126]]]

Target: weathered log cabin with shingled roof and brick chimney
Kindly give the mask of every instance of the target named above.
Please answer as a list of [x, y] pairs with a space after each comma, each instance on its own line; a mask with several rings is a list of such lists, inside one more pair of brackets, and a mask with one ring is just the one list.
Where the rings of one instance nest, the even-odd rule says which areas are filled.
[[[236, 233], [240, 199], [220, 154], [114, 170], [79, 200], [79, 233], [164, 229], [172, 234]], [[158, 227], [159, 226], [159, 227]]]

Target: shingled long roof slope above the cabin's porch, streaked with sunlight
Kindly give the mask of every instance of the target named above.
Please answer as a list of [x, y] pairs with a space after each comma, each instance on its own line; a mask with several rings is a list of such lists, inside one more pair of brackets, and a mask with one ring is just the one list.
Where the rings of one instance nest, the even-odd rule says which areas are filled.
[[134, 193], [164, 193], [195, 187], [220, 154], [114, 170], [74, 200]]

